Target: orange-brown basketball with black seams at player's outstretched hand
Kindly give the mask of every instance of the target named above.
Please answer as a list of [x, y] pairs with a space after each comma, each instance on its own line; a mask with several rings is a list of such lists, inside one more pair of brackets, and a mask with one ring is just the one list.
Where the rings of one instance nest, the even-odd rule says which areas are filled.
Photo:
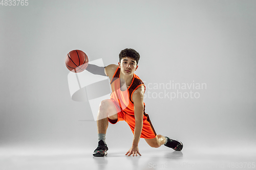
[[82, 72], [88, 66], [88, 56], [80, 50], [73, 50], [66, 56], [65, 63], [72, 72]]

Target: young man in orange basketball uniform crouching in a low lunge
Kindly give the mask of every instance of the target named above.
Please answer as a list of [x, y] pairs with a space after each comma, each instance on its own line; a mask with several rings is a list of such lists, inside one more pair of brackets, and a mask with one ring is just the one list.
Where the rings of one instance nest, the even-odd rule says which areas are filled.
[[91, 64], [88, 65], [87, 70], [93, 74], [108, 76], [112, 88], [110, 99], [102, 101], [99, 106], [97, 117], [98, 147], [93, 156], [102, 157], [107, 154], [108, 147], [105, 143], [105, 134], [109, 122], [116, 124], [122, 120], [130, 126], [134, 134], [132, 147], [125, 155], [141, 156], [138, 148], [140, 138], [144, 138], [154, 148], [158, 148], [162, 144], [175, 151], [181, 151], [183, 148], [180, 141], [157, 135], [150, 117], [145, 113], [145, 103], [143, 102], [145, 85], [134, 74], [134, 71], [138, 69], [139, 59], [139, 53], [131, 48], [126, 48], [119, 54], [118, 65], [111, 64], [104, 69]]

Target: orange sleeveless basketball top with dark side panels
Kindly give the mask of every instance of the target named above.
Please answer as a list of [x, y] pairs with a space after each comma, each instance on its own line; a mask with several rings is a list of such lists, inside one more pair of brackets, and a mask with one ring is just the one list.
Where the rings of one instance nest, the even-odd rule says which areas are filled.
[[[110, 99], [114, 100], [116, 103], [119, 104], [121, 111], [124, 111], [127, 114], [134, 115], [134, 104], [133, 104], [132, 96], [134, 91], [139, 86], [145, 87], [142, 80], [137, 75], [133, 74], [133, 80], [131, 85], [126, 90], [122, 91], [121, 85], [120, 85], [120, 68], [117, 68], [110, 84], [112, 88]], [[145, 110], [145, 103], [144, 103], [144, 110]]]

